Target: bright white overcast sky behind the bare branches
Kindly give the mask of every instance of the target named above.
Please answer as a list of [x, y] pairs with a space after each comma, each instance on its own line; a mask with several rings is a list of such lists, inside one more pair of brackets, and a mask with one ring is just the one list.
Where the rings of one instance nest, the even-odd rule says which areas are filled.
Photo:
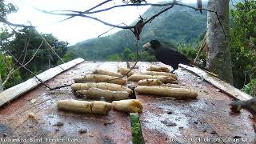
[[[105, 26], [100, 22], [96, 22], [88, 18], [71, 18], [65, 22], [58, 22], [66, 17], [45, 14], [40, 10], [87, 10], [96, 6], [105, 0], [9, 0], [18, 6], [18, 12], [10, 14], [8, 20], [14, 23], [26, 24], [30, 21], [34, 26], [38, 26], [37, 30], [42, 33], [51, 33], [62, 41], [67, 41], [70, 45], [84, 41], [89, 38], [96, 38], [99, 34], [106, 32], [110, 26]], [[150, 3], [161, 2], [162, 0], [147, 0]], [[196, 0], [182, 0], [182, 2], [196, 2]], [[121, 0], [114, 0], [100, 8], [114, 6], [114, 4], [122, 4]], [[130, 6], [109, 10], [92, 16], [102, 19], [113, 24], [126, 23], [129, 25], [138, 18], [139, 14], [148, 9], [149, 6]], [[111, 30], [110, 33], [120, 29]]]

